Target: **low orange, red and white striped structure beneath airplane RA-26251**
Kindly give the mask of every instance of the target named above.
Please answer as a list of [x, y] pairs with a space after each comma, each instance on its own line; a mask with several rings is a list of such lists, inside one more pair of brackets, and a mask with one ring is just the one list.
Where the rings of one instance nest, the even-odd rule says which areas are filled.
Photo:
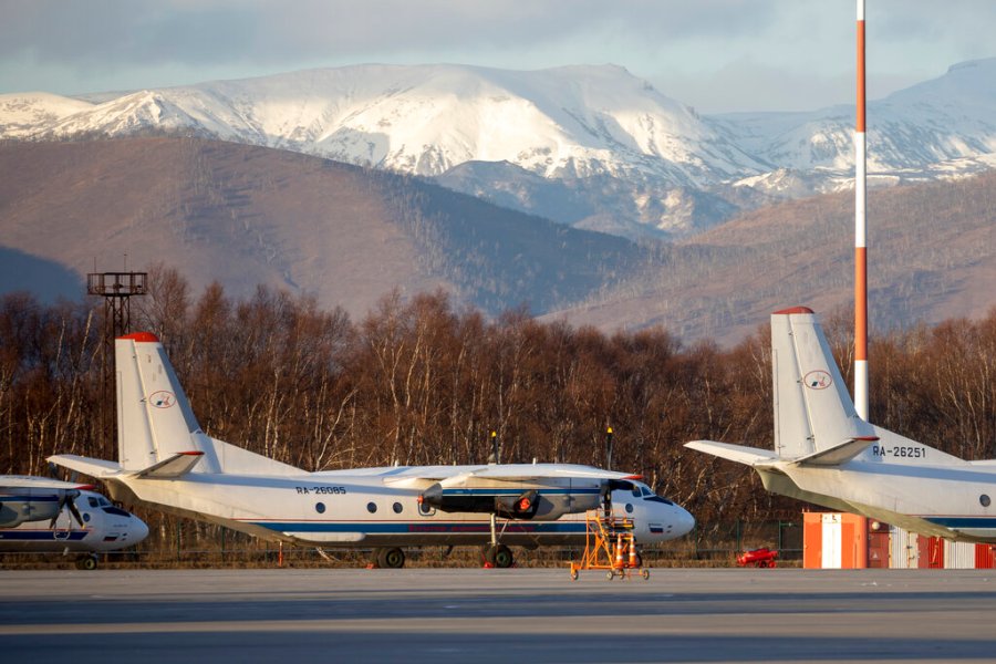
[[953, 542], [847, 512], [803, 512], [806, 569], [992, 569], [996, 546]]

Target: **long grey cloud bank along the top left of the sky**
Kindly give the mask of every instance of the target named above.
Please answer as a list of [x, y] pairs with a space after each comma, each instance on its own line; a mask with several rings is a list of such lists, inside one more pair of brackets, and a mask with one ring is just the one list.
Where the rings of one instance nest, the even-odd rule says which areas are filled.
[[[764, 3], [762, 3], [764, 4]], [[3, 0], [0, 55], [41, 63], [291, 63], [489, 49], [614, 34], [634, 41], [735, 34], [766, 14], [736, 0]], [[718, 20], [717, 20], [718, 17]], [[589, 42], [598, 52], [600, 44]]]

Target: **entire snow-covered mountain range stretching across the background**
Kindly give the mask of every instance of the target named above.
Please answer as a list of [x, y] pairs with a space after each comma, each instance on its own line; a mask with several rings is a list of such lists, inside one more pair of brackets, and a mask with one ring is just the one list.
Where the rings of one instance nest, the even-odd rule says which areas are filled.
[[[872, 181], [996, 165], [996, 59], [869, 104]], [[419, 176], [583, 228], [693, 235], [849, 186], [853, 108], [699, 116], [626, 70], [362, 65], [66, 98], [0, 95], [0, 137], [190, 134]]]

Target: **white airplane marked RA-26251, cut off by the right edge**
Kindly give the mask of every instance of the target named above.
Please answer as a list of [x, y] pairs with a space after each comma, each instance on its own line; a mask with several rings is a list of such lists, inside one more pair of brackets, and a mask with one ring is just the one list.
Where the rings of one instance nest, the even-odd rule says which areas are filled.
[[812, 310], [771, 314], [775, 449], [685, 446], [745, 464], [765, 488], [961, 541], [996, 542], [996, 460], [966, 461], [854, 411]]

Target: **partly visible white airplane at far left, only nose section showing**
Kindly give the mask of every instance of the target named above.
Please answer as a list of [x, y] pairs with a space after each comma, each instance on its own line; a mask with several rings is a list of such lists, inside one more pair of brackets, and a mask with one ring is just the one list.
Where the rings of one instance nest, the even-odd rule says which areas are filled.
[[0, 551], [77, 551], [76, 567], [96, 569], [96, 551], [137, 544], [148, 535], [138, 517], [111, 505], [91, 485], [22, 475], [0, 476]]

